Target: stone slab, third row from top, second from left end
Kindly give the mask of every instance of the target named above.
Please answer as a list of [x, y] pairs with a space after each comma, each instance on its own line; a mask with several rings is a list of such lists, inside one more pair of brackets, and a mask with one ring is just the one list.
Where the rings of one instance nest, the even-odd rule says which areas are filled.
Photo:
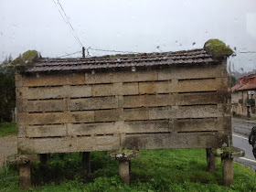
[[118, 107], [118, 99], [112, 97], [82, 98], [69, 101], [69, 111], [112, 109]]

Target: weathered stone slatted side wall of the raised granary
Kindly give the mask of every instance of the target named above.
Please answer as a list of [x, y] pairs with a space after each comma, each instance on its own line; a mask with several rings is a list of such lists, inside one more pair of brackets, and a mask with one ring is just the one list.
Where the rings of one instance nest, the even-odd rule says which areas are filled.
[[16, 74], [22, 154], [231, 144], [226, 61]]

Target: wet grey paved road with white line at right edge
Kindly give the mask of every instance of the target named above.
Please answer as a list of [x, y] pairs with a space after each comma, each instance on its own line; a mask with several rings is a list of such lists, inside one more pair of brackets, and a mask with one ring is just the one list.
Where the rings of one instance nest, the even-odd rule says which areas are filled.
[[251, 144], [249, 144], [248, 142], [248, 136], [251, 133], [251, 128], [253, 126], [256, 126], [256, 123], [232, 118], [233, 145], [245, 151], [245, 156], [241, 158], [236, 158], [235, 161], [256, 170], [255, 157], [252, 155], [252, 147]]

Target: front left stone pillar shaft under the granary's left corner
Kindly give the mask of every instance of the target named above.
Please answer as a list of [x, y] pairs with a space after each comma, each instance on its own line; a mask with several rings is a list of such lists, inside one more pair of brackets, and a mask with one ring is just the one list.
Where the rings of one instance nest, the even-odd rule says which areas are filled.
[[31, 187], [30, 163], [19, 165], [19, 187], [26, 190]]

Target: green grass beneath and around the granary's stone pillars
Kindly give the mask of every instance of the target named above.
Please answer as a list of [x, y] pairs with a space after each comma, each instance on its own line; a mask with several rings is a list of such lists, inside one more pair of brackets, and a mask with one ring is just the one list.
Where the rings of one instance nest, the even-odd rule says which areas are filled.
[[[223, 187], [220, 161], [218, 171], [206, 171], [205, 149], [141, 150], [132, 161], [131, 186], [118, 176], [118, 162], [105, 152], [91, 153], [89, 179], [80, 176], [79, 153], [50, 155], [48, 167], [32, 166], [31, 191], [256, 191], [256, 174], [234, 164], [234, 185]], [[0, 191], [17, 191], [18, 167], [0, 171]]]

